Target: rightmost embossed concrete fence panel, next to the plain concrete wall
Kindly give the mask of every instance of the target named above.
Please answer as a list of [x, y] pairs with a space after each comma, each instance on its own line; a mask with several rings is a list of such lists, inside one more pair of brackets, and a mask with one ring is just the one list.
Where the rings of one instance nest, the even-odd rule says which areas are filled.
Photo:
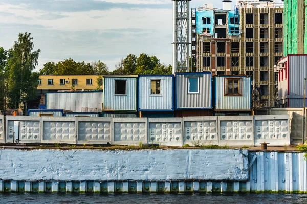
[[289, 115], [254, 116], [255, 146], [290, 145]]

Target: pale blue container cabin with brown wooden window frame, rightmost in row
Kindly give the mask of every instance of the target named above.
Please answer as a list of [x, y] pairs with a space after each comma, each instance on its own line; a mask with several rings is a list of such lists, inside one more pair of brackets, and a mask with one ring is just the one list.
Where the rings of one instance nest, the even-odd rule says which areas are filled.
[[[215, 75], [214, 110], [243, 111], [249, 114], [252, 108], [252, 85], [250, 75]], [[235, 113], [235, 115], [240, 115]]]

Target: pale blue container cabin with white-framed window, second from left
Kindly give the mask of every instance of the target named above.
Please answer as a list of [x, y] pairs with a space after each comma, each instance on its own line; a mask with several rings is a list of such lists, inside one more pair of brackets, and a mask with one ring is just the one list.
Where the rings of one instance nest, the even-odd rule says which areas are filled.
[[173, 117], [174, 76], [139, 75], [138, 110], [143, 117]]

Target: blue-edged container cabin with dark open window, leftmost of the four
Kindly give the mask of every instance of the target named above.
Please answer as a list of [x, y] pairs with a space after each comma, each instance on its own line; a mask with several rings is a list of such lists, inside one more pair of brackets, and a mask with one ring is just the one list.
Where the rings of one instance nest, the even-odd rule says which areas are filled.
[[137, 111], [137, 75], [103, 76], [103, 111]]

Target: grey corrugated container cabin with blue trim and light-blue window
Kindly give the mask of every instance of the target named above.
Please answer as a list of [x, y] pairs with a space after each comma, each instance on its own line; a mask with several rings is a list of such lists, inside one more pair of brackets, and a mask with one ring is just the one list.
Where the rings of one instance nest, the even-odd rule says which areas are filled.
[[175, 74], [176, 110], [212, 109], [211, 72]]

